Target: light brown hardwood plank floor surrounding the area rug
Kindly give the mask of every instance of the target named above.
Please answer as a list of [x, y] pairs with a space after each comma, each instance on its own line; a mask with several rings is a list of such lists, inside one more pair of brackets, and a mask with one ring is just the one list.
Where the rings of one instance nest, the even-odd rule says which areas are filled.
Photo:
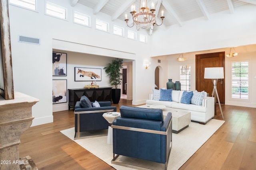
[[[121, 99], [114, 104], [133, 106]], [[222, 119], [217, 108], [214, 119]], [[226, 121], [180, 170], [256, 170], [256, 108], [222, 105]], [[74, 127], [74, 112], [53, 113], [54, 122], [30, 127], [20, 138], [20, 157], [31, 156], [39, 170], [114, 170], [61, 130]], [[171, 166], [171, 165], [169, 165]]]

